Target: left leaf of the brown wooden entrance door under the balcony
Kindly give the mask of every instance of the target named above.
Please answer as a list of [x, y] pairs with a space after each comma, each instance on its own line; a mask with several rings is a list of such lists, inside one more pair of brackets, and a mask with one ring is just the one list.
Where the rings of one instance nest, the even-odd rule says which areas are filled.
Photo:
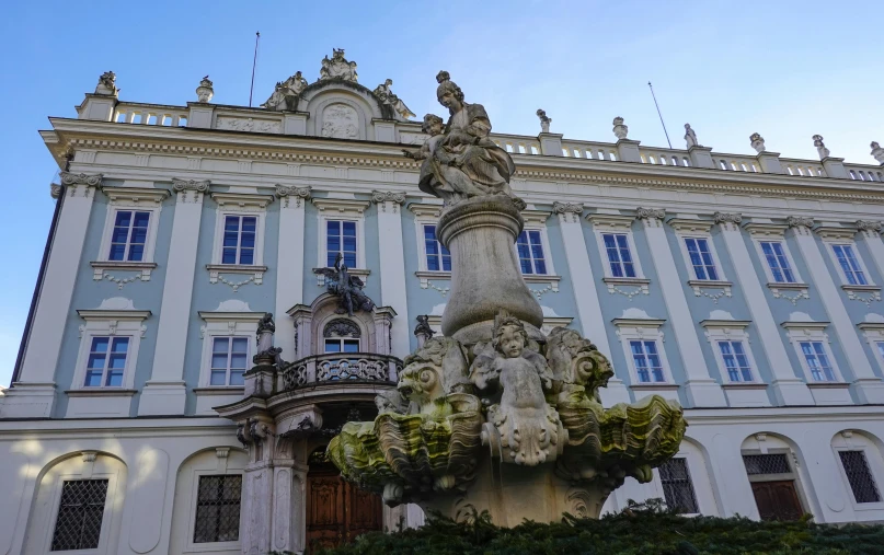
[[307, 477], [307, 547], [334, 547], [344, 541], [345, 484], [341, 476]]

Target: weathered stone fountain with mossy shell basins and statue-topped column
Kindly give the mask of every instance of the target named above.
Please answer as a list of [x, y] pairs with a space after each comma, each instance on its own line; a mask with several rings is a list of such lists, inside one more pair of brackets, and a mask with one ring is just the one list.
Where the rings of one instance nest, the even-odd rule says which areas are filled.
[[[440, 197], [439, 241], [451, 252], [444, 337], [426, 339], [376, 400], [379, 415], [347, 423], [328, 453], [342, 475], [389, 506], [414, 502], [454, 519], [487, 510], [500, 525], [598, 518], [627, 476], [650, 482], [677, 451], [681, 407], [661, 396], [604, 408], [610, 362], [574, 329], [544, 335], [539, 303], [513, 248], [525, 203], [515, 164], [490, 138], [481, 104], [447, 71], [428, 114], [420, 187]], [[599, 315], [600, 316], [600, 315]]]

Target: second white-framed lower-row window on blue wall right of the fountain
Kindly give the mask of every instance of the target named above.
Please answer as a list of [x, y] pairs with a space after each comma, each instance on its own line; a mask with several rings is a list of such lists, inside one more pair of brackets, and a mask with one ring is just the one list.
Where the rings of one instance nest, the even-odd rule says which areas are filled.
[[[725, 313], [726, 316], [730, 314]], [[741, 320], [704, 320], [705, 336], [712, 346], [715, 362], [725, 383], [758, 381], [757, 367], [746, 333], [750, 322]]]

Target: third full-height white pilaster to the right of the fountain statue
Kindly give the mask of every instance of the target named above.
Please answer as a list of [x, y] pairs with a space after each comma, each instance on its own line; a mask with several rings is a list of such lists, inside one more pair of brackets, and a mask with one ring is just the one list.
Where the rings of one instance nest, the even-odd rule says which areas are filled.
[[777, 404], [813, 405], [814, 397], [811, 395], [811, 390], [795, 375], [792, 363], [789, 361], [780, 329], [773, 321], [773, 313], [770, 312], [761, 282], [755, 273], [749, 250], [746, 248], [746, 243], [743, 241], [738, 227], [743, 217], [738, 213], [715, 212], [713, 218], [721, 228], [724, 244], [734, 263], [737, 282], [746, 297], [753, 322], [761, 339], [761, 347], [765, 349], [770, 370], [773, 373], [771, 388]]

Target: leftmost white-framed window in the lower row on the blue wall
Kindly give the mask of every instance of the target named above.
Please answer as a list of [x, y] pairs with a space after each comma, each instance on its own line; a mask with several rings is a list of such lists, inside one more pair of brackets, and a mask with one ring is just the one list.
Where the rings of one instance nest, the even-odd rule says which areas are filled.
[[96, 310], [78, 310], [85, 323], [80, 326], [80, 354], [73, 390], [131, 390], [145, 320], [150, 311], [135, 310], [131, 301], [113, 298]]

